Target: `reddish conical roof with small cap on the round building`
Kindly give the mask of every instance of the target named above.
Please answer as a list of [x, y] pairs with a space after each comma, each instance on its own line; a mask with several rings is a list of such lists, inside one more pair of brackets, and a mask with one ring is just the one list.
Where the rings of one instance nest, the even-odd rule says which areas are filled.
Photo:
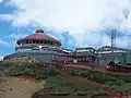
[[26, 36], [22, 39], [19, 39], [16, 41], [17, 45], [20, 45], [22, 41], [25, 41], [25, 40], [47, 40], [47, 41], [53, 41], [53, 42], [57, 42], [61, 46], [61, 42], [46, 34], [44, 34], [44, 30], [43, 29], [37, 29], [35, 34], [32, 34], [29, 36]]

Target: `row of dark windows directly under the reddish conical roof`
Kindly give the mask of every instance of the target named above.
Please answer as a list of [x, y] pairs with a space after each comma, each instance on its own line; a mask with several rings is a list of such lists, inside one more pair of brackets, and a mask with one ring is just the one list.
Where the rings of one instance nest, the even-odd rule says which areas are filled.
[[22, 45], [24, 44], [48, 44], [48, 45], [58, 45], [57, 42], [55, 41], [48, 41], [48, 40], [26, 40], [26, 41], [23, 41]]

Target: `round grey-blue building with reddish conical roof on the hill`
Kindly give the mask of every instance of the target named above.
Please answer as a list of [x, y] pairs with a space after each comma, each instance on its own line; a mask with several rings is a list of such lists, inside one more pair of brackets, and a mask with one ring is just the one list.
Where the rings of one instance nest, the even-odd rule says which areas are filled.
[[68, 60], [68, 57], [60, 57], [60, 54], [72, 52], [72, 50], [62, 48], [61, 41], [46, 35], [43, 29], [37, 29], [35, 34], [19, 39], [16, 44], [15, 52], [4, 57], [4, 59], [35, 58], [44, 62], [51, 62], [53, 60]]

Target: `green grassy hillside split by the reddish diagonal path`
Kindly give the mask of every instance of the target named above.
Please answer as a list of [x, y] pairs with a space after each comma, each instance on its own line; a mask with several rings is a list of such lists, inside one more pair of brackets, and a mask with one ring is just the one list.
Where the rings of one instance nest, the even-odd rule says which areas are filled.
[[[1, 68], [2, 68], [1, 69], [2, 72], [4, 72], [7, 75], [32, 75], [36, 78], [44, 78], [47, 83], [45, 85], [45, 88], [43, 89], [45, 91], [50, 91], [50, 93], [103, 91], [102, 88], [97, 88], [92, 85], [81, 85], [78, 83], [72, 83], [67, 78], [64, 78], [63, 76], [52, 73], [50, 69], [46, 69], [38, 63], [36, 64], [22, 63], [22, 62], [4, 63], [4, 64], [2, 63]], [[3, 68], [4, 68], [4, 71], [3, 71]], [[74, 69], [67, 69], [67, 68], [64, 69], [64, 71], [67, 71], [69, 74], [74, 76], [82, 76], [84, 78], [105, 84], [120, 91], [126, 89], [131, 89], [130, 76], [110, 75], [110, 74], [103, 74], [95, 71], [74, 70]]]

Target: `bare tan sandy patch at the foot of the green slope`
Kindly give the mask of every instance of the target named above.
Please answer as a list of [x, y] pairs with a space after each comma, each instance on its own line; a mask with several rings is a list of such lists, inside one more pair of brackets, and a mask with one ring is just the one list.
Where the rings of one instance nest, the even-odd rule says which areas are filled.
[[31, 98], [32, 94], [41, 89], [44, 81], [26, 77], [8, 77], [9, 86], [1, 98]]

